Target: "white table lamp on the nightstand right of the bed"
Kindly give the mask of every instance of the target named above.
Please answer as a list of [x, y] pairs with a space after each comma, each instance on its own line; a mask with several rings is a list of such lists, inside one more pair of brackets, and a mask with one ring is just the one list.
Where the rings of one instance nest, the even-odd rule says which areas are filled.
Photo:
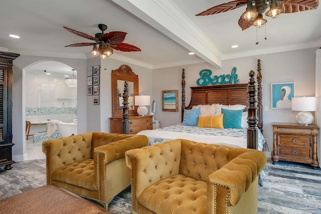
[[300, 111], [296, 114], [296, 121], [307, 126], [313, 122], [313, 115], [309, 111], [316, 111], [316, 97], [292, 97], [292, 111]]

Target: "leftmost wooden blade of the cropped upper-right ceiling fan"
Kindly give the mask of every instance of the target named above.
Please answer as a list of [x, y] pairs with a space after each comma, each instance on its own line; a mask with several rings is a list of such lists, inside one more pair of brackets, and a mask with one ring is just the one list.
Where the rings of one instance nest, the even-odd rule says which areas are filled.
[[237, 8], [240, 8], [242, 6], [247, 5], [248, 0], [237, 0], [237, 1], [232, 1], [228, 3], [224, 3], [218, 6], [215, 6], [213, 8], [210, 8], [206, 11], [203, 11], [202, 13], [199, 13], [195, 16], [208, 16], [208, 15], [213, 15], [213, 14], [219, 14], [219, 13], [224, 13], [227, 11], [231, 11]]

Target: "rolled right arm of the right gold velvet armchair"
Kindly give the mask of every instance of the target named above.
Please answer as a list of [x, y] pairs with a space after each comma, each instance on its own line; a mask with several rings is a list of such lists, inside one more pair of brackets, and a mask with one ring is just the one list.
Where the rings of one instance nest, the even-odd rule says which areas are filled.
[[[228, 203], [235, 206], [263, 170], [265, 164], [266, 156], [263, 152], [259, 150], [249, 150], [210, 174], [208, 183], [214, 184], [213, 188], [215, 188], [217, 184], [229, 188], [230, 198], [228, 199]], [[219, 194], [217, 189], [214, 191], [215, 194]], [[214, 203], [214, 201], [212, 202]]]

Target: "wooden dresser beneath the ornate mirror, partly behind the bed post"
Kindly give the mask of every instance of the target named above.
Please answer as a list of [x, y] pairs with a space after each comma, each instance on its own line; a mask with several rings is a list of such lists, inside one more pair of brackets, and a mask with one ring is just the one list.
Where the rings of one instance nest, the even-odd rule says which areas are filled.
[[[148, 116], [130, 116], [129, 119], [129, 134], [137, 134], [142, 130], [152, 130], [152, 115]], [[122, 118], [110, 118], [110, 132], [122, 133]]]

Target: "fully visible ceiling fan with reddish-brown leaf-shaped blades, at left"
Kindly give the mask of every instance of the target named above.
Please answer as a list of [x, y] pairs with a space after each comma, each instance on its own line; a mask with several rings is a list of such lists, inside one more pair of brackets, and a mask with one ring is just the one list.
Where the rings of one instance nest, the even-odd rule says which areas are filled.
[[[94, 41], [94, 43], [75, 43], [65, 47], [93, 46], [91, 53], [94, 56], [100, 55], [100, 58], [102, 59], [110, 57], [114, 52], [113, 49], [123, 52], [141, 51], [136, 46], [123, 43], [127, 33], [114, 31], [105, 34], [104, 31], [107, 30], [107, 26], [104, 24], [99, 24], [98, 28], [101, 30], [101, 33], [97, 33], [95, 34], [95, 37], [93, 37], [88, 34], [64, 27], [64, 29], [73, 34]], [[99, 47], [97, 47], [97, 45], [99, 45]]]

